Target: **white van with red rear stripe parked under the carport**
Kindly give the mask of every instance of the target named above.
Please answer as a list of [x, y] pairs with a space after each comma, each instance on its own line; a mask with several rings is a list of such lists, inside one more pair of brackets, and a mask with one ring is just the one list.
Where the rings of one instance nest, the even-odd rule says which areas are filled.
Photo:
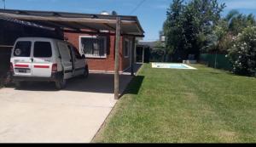
[[74, 76], [88, 77], [84, 55], [69, 42], [44, 38], [20, 37], [16, 40], [10, 59], [10, 72], [15, 86], [24, 82], [55, 82], [58, 89]]

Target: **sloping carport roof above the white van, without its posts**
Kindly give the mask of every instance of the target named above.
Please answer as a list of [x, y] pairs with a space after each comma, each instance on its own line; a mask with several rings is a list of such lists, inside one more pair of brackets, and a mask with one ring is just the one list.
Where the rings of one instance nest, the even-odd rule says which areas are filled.
[[115, 31], [117, 17], [120, 17], [121, 20], [122, 35], [144, 36], [137, 16], [0, 9], [0, 19], [2, 20], [71, 31]]

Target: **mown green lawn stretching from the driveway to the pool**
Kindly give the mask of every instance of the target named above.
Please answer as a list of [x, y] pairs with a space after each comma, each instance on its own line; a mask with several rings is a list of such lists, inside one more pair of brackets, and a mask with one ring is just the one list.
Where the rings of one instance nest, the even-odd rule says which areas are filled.
[[93, 142], [255, 143], [256, 78], [194, 67], [143, 65]]

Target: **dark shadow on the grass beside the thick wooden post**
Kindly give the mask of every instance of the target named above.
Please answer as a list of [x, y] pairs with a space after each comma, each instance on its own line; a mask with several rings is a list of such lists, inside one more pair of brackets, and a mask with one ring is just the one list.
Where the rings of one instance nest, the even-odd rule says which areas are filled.
[[144, 76], [134, 76], [124, 93], [121, 94], [121, 97], [125, 94], [137, 94], [140, 91], [143, 80]]

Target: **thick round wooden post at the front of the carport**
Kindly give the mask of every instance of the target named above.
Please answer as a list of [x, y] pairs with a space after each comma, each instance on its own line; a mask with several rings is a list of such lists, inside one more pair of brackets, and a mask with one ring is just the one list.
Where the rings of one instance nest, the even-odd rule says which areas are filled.
[[115, 58], [114, 58], [114, 99], [119, 99], [119, 44], [121, 34], [121, 19], [116, 18]]

